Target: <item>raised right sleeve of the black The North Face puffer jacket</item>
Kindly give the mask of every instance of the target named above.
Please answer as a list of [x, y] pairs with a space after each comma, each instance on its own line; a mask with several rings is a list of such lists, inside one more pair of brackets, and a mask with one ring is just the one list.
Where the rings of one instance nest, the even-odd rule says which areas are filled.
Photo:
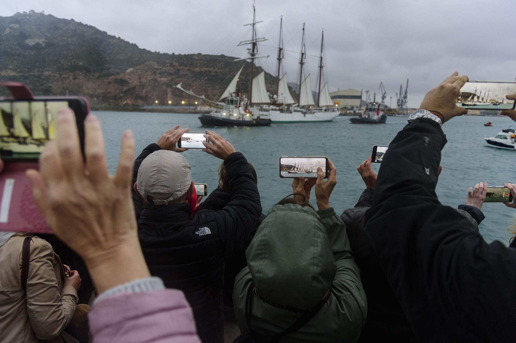
[[240, 250], [262, 213], [260, 194], [247, 159], [233, 152], [224, 160], [231, 200], [215, 212], [225, 256]]

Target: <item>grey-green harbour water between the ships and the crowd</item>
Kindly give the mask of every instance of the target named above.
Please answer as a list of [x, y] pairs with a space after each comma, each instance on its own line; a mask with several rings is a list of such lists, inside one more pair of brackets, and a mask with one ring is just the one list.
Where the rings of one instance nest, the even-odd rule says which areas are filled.
[[[204, 132], [198, 115], [139, 112], [94, 112], [99, 116], [106, 141], [109, 169], [114, 173], [120, 151], [121, 133], [133, 130], [136, 155], [174, 125]], [[330, 204], [337, 214], [353, 207], [365, 188], [357, 166], [369, 157], [374, 145], [389, 145], [396, 133], [407, 124], [407, 117], [389, 117], [384, 125], [350, 124], [350, 117], [338, 117], [331, 123], [272, 124], [270, 127], [216, 128], [217, 133], [244, 153], [258, 175], [258, 188], [266, 213], [276, 202], [292, 193], [291, 180], [279, 177], [280, 156], [327, 156], [337, 168], [337, 185]], [[493, 121], [493, 127], [482, 124]], [[443, 126], [448, 143], [442, 152], [443, 171], [437, 194], [445, 205], [464, 203], [467, 188], [486, 181], [498, 186], [516, 182], [516, 151], [492, 148], [483, 138], [494, 136], [513, 123], [506, 117], [462, 116]], [[516, 125], [514, 125], [516, 126]], [[211, 192], [218, 184], [217, 168], [221, 160], [207, 153], [190, 149], [184, 153], [192, 167], [192, 180], [208, 184]], [[380, 164], [373, 163], [378, 172]], [[312, 192], [310, 201], [315, 205]], [[502, 203], [486, 203], [482, 207], [486, 219], [480, 232], [487, 242], [494, 239], [508, 244], [507, 231], [516, 211]]]

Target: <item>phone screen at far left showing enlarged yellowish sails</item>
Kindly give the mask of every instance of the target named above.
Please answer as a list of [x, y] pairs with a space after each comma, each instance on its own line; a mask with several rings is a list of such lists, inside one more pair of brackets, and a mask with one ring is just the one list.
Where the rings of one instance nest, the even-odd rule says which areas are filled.
[[68, 101], [0, 101], [0, 156], [37, 159], [56, 138], [57, 113], [67, 107]]

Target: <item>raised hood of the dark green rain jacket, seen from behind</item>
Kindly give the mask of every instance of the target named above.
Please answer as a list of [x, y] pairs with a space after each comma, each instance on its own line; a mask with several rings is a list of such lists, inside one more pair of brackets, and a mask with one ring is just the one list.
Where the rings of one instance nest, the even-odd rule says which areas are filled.
[[246, 255], [257, 293], [299, 310], [312, 308], [324, 298], [336, 272], [319, 215], [297, 204], [273, 207]]

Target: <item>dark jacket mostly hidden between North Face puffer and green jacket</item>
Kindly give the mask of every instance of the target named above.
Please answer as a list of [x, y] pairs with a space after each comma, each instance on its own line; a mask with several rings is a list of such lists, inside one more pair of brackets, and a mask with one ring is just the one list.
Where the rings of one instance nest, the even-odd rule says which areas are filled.
[[[197, 211], [200, 210], [212, 210], [212, 211], [220, 211], [224, 208], [224, 206], [230, 202], [231, 200], [231, 192], [223, 191], [219, 188], [215, 188], [212, 193], [208, 195], [206, 200], [199, 204]], [[254, 234], [256, 233], [256, 229], [262, 224], [262, 221], [265, 219], [265, 214], [260, 213], [256, 224], [249, 232], [249, 236], [247, 237], [244, 244], [241, 246], [241, 249], [235, 250], [232, 256], [229, 256], [229, 259], [225, 261], [225, 269], [224, 269], [224, 306], [226, 307], [226, 311], [231, 311], [231, 313], [226, 312], [226, 315], [230, 315], [234, 317], [234, 313], [232, 313], [233, 308], [233, 286], [235, 285], [235, 279], [240, 270], [247, 267], [247, 259], [246, 259], [246, 250], [251, 243]]]

